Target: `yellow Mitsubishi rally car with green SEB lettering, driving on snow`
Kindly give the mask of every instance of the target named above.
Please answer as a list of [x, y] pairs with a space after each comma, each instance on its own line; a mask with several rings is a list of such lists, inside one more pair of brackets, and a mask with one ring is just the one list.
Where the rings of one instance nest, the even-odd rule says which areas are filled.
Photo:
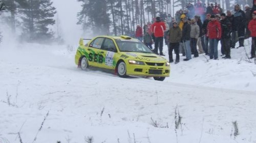
[[143, 42], [128, 36], [97, 36], [84, 45], [80, 39], [75, 62], [82, 70], [89, 66], [113, 70], [119, 77], [147, 76], [163, 81], [170, 75], [168, 61]]

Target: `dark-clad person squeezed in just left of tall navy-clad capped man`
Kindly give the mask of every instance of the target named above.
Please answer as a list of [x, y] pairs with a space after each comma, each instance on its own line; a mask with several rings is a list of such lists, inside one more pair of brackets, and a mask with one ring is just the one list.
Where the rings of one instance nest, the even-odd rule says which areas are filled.
[[234, 26], [234, 14], [230, 10], [227, 10], [226, 18], [231, 23], [231, 39], [230, 39], [230, 48], [234, 49], [236, 45], [236, 30]]

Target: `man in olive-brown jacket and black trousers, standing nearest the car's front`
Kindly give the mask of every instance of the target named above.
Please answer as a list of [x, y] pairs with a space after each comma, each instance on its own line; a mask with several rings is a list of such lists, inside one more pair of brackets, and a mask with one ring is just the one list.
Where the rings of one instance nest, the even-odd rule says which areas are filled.
[[173, 62], [172, 58], [172, 50], [174, 50], [176, 54], [176, 60], [175, 64], [178, 64], [180, 62], [180, 53], [179, 53], [179, 47], [180, 47], [180, 40], [181, 40], [181, 30], [180, 27], [176, 22], [173, 22], [173, 26], [170, 28], [169, 32], [169, 42], [170, 42], [170, 50], [169, 50], [169, 62]]

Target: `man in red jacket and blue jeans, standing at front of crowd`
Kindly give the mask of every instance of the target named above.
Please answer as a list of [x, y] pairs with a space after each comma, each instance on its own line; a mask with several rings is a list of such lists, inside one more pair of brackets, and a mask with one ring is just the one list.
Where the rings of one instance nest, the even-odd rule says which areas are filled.
[[216, 20], [215, 15], [211, 16], [211, 21], [207, 25], [207, 37], [210, 43], [210, 59], [218, 59], [218, 43], [221, 38], [220, 22]]

